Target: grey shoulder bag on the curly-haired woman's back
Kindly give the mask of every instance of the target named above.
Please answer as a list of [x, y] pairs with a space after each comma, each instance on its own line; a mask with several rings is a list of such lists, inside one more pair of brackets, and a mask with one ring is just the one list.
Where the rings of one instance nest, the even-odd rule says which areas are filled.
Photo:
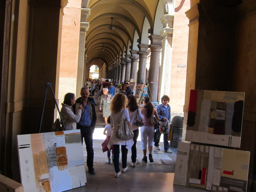
[[130, 140], [134, 137], [134, 133], [124, 118], [124, 110], [122, 111], [122, 116], [119, 118], [118, 124], [116, 125], [116, 137], [120, 140]]

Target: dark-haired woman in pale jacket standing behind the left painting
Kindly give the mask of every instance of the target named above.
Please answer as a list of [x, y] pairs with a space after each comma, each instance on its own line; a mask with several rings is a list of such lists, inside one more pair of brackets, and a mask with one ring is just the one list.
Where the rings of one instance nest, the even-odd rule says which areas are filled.
[[72, 105], [75, 103], [76, 96], [74, 93], [67, 93], [64, 96], [64, 101], [61, 104], [62, 108], [60, 110], [60, 114], [66, 130], [76, 130], [76, 123], [78, 123], [81, 118], [82, 105], [78, 107], [76, 114], [74, 114]]

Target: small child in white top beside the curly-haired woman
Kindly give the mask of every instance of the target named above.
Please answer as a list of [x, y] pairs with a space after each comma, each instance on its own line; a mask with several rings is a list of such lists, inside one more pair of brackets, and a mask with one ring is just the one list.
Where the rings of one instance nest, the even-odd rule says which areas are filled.
[[[107, 156], [108, 156], [108, 160], [106, 161], [107, 164], [110, 164], [110, 150], [112, 150], [112, 161], [114, 163], [114, 147], [111, 146], [110, 150], [108, 149], [107, 145], [108, 145], [108, 142], [110, 140], [110, 137], [111, 137], [111, 134], [112, 134], [112, 127], [111, 127], [111, 124], [110, 124], [110, 116], [108, 116], [108, 120], [107, 120], [108, 124], [105, 126], [104, 128], [104, 132], [103, 134], [106, 135], [106, 139], [104, 140], [104, 142], [101, 144], [102, 145], [102, 151], [105, 152], [107, 151]], [[106, 133], [107, 132], [107, 133]]]

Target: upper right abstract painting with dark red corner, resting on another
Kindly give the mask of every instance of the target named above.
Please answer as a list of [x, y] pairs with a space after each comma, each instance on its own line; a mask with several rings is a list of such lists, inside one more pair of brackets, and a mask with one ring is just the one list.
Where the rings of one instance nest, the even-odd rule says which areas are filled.
[[191, 90], [186, 140], [240, 147], [244, 92]]

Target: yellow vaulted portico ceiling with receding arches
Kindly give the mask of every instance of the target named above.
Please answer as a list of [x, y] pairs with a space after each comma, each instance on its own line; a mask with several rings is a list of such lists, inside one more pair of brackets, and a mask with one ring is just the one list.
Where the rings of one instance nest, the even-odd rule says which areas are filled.
[[[88, 0], [90, 16], [87, 22], [90, 26], [86, 32], [85, 48], [89, 65], [101, 58], [109, 66], [122, 53], [128, 53], [129, 46], [137, 41], [137, 38], [133, 39], [134, 34], [139, 38], [142, 36], [145, 18], [149, 28], [154, 28], [157, 5], [158, 0]], [[111, 22], [112, 30], [109, 28]]]

